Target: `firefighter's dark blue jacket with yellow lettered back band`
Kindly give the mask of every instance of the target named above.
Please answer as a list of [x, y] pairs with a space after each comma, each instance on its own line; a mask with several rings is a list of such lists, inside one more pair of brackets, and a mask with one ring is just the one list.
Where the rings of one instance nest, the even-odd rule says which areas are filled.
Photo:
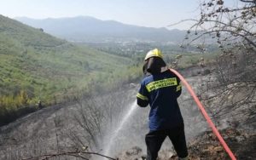
[[167, 70], [144, 77], [137, 93], [137, 104], [149, 106], [149, 129], [172, 129], [183, 124], [177, 97], [181, 94], [180, 79]]

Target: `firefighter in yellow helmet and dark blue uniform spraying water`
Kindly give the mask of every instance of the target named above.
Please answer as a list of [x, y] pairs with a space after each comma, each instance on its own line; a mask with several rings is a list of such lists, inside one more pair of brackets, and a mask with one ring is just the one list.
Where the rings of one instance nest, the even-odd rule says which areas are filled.
[[166, 136], [172, 141], [177, 156], [188, 159], [184, 124], [177, 97], [181, 94], [180, 79], [170, 71], [160, 49], [153, 49], [145, 57], [145, 77], [137, 93], [137, 105], [150, 106], [149, 132], [146, 134], [147, 160], [156, 160]]

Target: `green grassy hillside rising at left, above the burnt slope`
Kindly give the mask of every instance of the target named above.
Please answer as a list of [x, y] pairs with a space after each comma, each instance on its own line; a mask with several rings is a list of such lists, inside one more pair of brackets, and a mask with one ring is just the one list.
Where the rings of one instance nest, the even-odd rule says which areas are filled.
[[6, 96], [18, 95], [21, 90], [26, 92], [29, 100], [50, 101], [78, 90], [89, 92], [95, 86], [101, 89], [103, 83], [113, 82], [114, 74], [130, 62], [67, 43], [0, 15], [2, 106], [8, 99]]

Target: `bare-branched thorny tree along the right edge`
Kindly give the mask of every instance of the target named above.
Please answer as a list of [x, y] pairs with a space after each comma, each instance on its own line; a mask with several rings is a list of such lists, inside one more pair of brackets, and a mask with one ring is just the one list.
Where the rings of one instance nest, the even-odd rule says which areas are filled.
[[213, 77], [203, 85], [201, 100], [220, 106], [211, 111], [217, 119], [233, 118], [230, 112], [236, 110], [238, 122], [255, 123], [256, 0], [237, 0], [233, 7], [225, 0], [204, 0], [200, 9], [184, 42], [213, 39], [222, 53], [213, 64]]

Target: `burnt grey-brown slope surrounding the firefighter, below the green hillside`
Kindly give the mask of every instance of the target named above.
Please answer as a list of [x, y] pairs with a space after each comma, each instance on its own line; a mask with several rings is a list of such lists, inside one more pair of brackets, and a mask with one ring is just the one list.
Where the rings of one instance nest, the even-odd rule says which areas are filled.
[[[207, 78], [208, 76], [201, 81], [205, 81]], [[189, 77], [187, 80], [193, 89], [196, 91], [200, 89], [201, 86], [198, 84], [200, 77]], [[126, 86], [125, 89], [119, 92], [98, 95], [94, 98], [89, 97], [91, 101], [79, 100], [78, 104], [67, 103], [44, 108], [22, 117], [14, 123], [0, 127], [0, 159], [12, 160], [22, 157], [36, 157], [62, 151], [73, 151], [75, 152], [74, 156], [80, 155], [82, 154], [80, 151], [82, 151], [81, 148], [83, 146], [90, 146], [92, 139], [89, 134], [91, 132], [94, 133], [93, 136], [95, 136], [96, 140], [99, 140], [100, 150], [89, 148], [87, 151], [104, 153], [107, 149], [104, 144], [108, 146], [109, 140], [112, 140], [111, 137], [117, 132], [119, 123], [122, 123], [124, 115], [131, 108], [132, 101], [135, 100], [138, 86], [139, 84], [129, 88]], [[183, 94], [178, 98], [178, 103], [184, 118], [190, 159], [230, 159], [218, 139], [212, 134], [187, 89], [183, 88]], [[81, 106], [81, 104], [83, 105]], [[98, 117], [102, 119], [100, 121], [100, 132], [98, 129], [86, 130], [83, 126], [86, 121], [82, 120], [83, 118], [80, 116], [90, 117], [90, 107], [96, 109], [97, 113], [102, 113], [98, 115], [105, 115], [104, 117]], [[118, 131], [118, 136], [113, 139], [107, 156], [119, 157], [121, 160], [142, 159], [145, 156], [144, 135], [148, 133], [148, 109], [149, 107], [137, 107], [131, 117], [128, 117], [127, 123], [123, 123], [122, 128]], [[112, 114], [109, 114], [108, 111], [111, 111]], [[95, 114], [92, 115], [95, 116]], [[244, 129], [241, 126], [234, 128], [230, 125], [226, 125], [223, 128], [218, 123], [216, 124], [220, 134], [230, 146], [231, 151], [236, 154], [237, 159], [254, 159], [255, 129]], [[84, 157], [88, 156], [88, 154], [82, 155]], [[72, 160], [76, 159], [76, 157], [67, 157], [67, 159]], [[88, 159], [96, 158], [88, 157]], [[102, 158], [99, 157], [99, 159]], [[159, 160], [166, 159], [177, 160], [171, 141], [167, 139], [159, 154]]]

